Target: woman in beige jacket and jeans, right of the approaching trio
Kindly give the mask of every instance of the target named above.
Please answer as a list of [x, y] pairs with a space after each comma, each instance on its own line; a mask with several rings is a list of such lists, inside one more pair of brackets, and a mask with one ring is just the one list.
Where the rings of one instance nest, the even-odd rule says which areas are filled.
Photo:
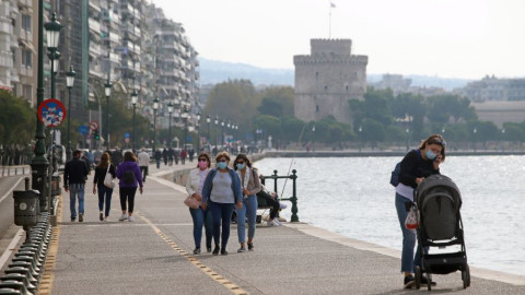
[[237, 236], [241, 248], [237, 252], [246, 251], [246, 216], [248, 217], [248, 250], [254, 250], [255, 224], [257, 222], [257, 192], [260, 191], [260, 181], [257, 169], [252, 167], [246, 154], [238, 154], [233, 162], [243, 187], [243, 206], [237, 213]]

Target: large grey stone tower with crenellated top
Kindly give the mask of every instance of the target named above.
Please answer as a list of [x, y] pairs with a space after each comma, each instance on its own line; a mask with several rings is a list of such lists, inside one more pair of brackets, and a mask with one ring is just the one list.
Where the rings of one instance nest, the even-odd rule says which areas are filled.
[[349, 99], [363, 99], [369, 57], [352, 56], [351, 39], [311, 39], [310, 56], [294, 56], [295, 117], [303, 121], [334, 116], [352, 122]]

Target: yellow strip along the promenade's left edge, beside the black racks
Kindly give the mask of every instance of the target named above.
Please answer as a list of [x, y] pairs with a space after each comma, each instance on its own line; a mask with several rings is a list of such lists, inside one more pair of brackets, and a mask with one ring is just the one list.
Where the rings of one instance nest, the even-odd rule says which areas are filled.
[[[62, 220], [62, 196], [58, 196], [57, 221]], [[38, 295], [51, 294], [52, 283], [55, 281], [55, 266], [57, 264], [58, 239], [60, 237], [60, 226], [52, 227], [51, 241], [47, 250], [46, 263], [38, 285]]]

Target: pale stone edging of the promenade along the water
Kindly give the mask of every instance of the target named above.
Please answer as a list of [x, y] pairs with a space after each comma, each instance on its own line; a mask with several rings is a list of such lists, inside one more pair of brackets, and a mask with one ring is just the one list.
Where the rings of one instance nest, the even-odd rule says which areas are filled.
[[[322, 238], [325, 240], [338, 243], [348, 247], [352, 247], [359, 250], [372, 251], [384, 256], [389, 256], [393, 258], [400, 258], [401, 251], [372, 244], [369, 241], [358, 240], [349, 238], [336, 233], [331, 233], [327, 229], [316, 227], [307, 223], [283, 223], [284, 226], [295, 228], [300, 232], [303, 232], [306, 235]], [[472, 268], [470, 267], [470, 274], [480, 279], [498, 281], [502, 283], [508, 283], [512, 285], [525, 285], [525, 275], [517, 275], [506, 272]]]

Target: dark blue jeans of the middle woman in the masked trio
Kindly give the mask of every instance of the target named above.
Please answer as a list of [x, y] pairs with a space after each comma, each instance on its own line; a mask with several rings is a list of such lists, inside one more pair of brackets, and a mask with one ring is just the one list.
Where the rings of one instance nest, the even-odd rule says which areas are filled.
[[[233, 213], [233, 203], [215, 203], [209, 201], [211, 211], [211, 219], [213, 221], [213, 241], [215, 246], [219, 246], [221, 241], [221, 248], [226, 249], [228, 239], [230, 238], [230, 223]], [[221, 224], [222, 224], [222, 240], [221, 238]]]

